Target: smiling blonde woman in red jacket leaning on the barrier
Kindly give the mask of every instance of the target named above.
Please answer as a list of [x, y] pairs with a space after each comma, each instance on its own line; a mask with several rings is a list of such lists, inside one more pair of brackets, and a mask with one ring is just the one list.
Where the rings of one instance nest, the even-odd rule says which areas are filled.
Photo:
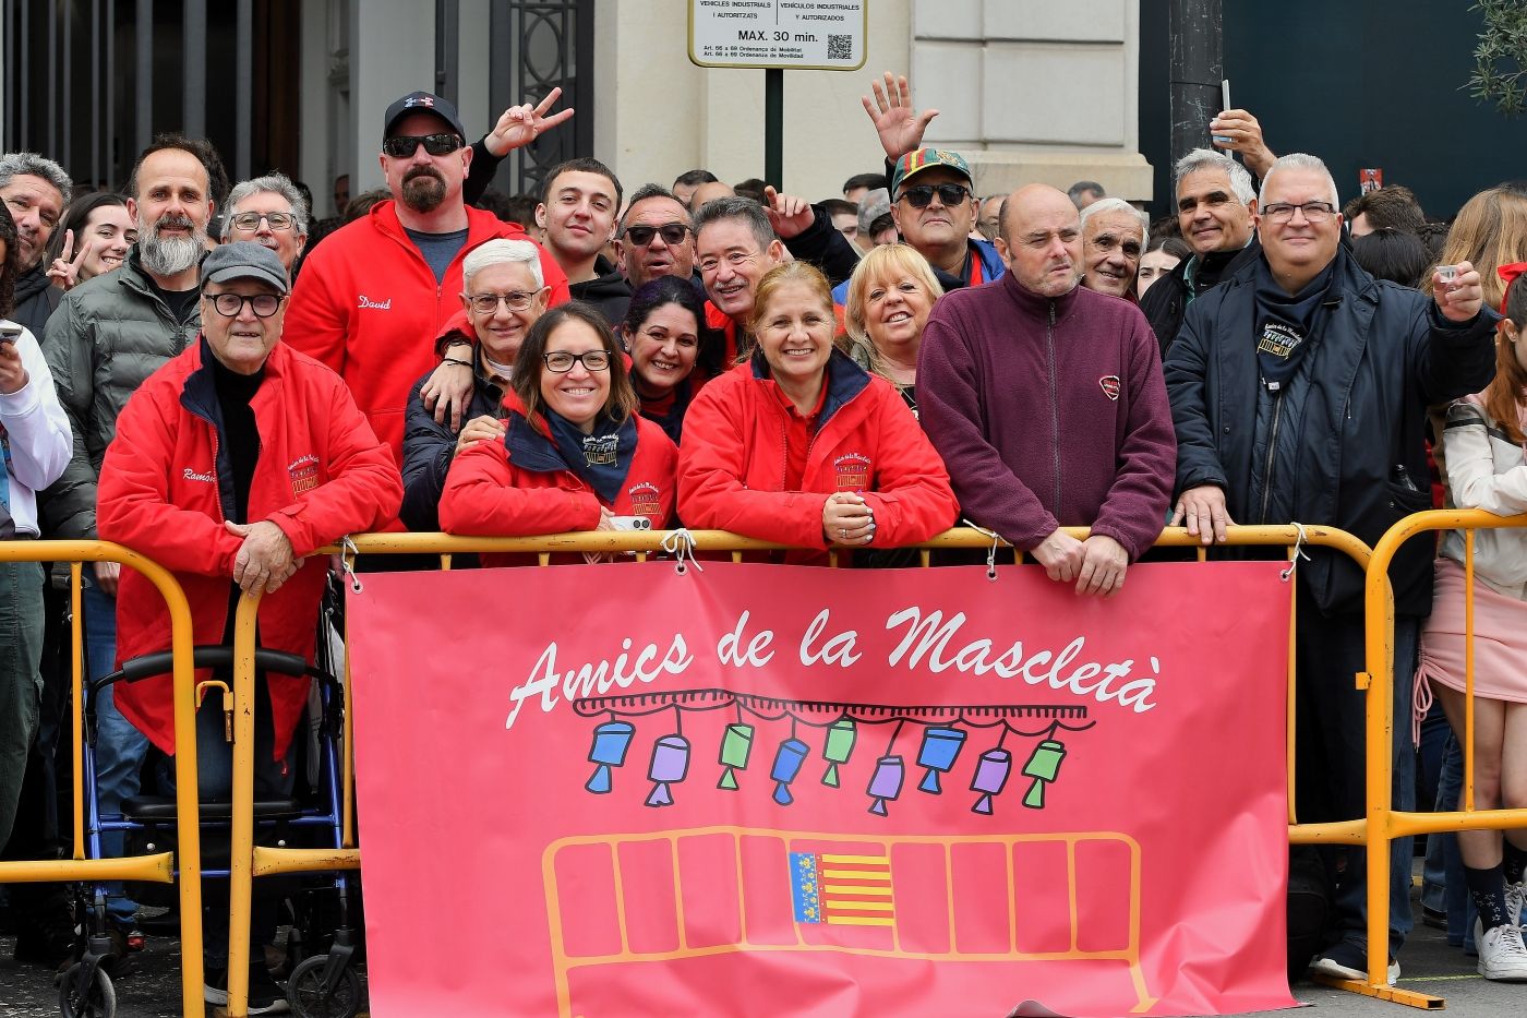
[[753, 358], [695, 397], [680, 454], [690, 527], [893, 547], [954, 523], [944, 462], [886, 379], [835, 349], [832, 292], [793, 261], [759, 281]]

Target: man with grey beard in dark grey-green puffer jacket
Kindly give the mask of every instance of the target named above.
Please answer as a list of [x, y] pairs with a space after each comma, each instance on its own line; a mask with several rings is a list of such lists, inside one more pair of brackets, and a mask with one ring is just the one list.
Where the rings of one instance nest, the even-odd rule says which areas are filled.
[[[96, 478], [116, 417], [145, 378], [186, 349], [202, 329], [200, 264], [212, 217], [212, 186], [221, 160], [205, 141], [160, 135], [144, 150], [128, 179], [127, 211], [137, 222], [137, 245], [115, 272], [69, 290], [47, 319], [43, 353], [60, 402], [75, 433], [64, 475], [47, 489], [50, 537], [96, 537]], [[86, 570], [86, 656], [92, 679], [116, 657], [116, 581], [119, 566]], [[98, 700], [96, 776], [102, 813], [119, 812], [137, 793], [137, 772], [148, 740], [116, 711], [111, 688]], [[102, 835], [107, 854], [121, 854], [122, 836]], [[113, 897], [119, 928], [134, 905]]]

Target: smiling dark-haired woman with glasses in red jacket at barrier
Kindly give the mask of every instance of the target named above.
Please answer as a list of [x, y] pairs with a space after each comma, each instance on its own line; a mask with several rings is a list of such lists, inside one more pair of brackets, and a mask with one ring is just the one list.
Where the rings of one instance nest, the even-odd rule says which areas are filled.
[[542, 315], [515, 358], [504, 434], [450, 465], [440, 500], [447, 533], [533, 537], [611, 530], [614, 517], [667, 526], [678, 449], [635, 413], [625, 356], [596, 309]]

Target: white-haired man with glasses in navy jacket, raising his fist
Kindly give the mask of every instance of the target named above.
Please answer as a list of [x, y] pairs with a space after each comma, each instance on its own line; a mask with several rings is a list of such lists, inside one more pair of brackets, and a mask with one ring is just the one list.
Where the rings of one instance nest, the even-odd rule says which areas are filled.
[[[1400, 518], [1431, 509], [1426, 408], [1490, 381], [1498, 315], [1483, 307], [1480, 274], [1467, 263], [1432, 274], [1426, 292], [1364, 272], [1341, 243], [1336, 183], [1315, 156], [1274, 162], [1258, 197], [1260, 251], [1199, 293], [1167, 355], [1177, 430], [1173, 523], [1203, 544], [1225, 541], [1235, 523], [1298, 521], [1374, 546]], [[1419, 625], [1432, 605], [1434, 550], [1431, 541], [1411, 541], [1390, 567], [1400, 810], [1416, 796], [1406, 720]], [[1364, 573], [1344, 555], [1306, 552], [1295, 570], [1293, 795], [1301, 822], [1358, 819], [1367, 809], [1364, 692], [1353, 683], [1365, 669]], [[1365, 978], [1365, 854], [1362, 847], [1330, 854], [1327, 871], [1342, 873], [1325, 931], [1336, 943], [1313, 968]], [[1409, 838], [1394, 841], [1391, 859], [1393, 983], [1394, 957], [1411, 931]], [[1290, 940], [1290, 974], [1315, 948], [1295, 957]]]

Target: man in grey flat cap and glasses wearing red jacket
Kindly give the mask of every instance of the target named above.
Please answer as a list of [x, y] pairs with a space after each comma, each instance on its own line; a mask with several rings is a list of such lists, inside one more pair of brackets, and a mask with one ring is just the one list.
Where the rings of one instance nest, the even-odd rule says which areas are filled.
[[[344, 382], [279, 342], [287, 272], [269, 248], [234, 242], [202, 272], [202, 332], [122, 410], [101, 466], [101, 537], [168, 567], [191, 604], [195, 644], [231, 644], [243, 593], [263, 593], [260, 645], [313, 659], [328, 559], [318, 549], [376, 530], [403, 497], [386, 445]], [[122, 660], [169, 647], [169, 614], [142, 573], [122, 573]], [[223, 669], [214, 676], [232, 682]], [[255, 798], [292, 795], [293, 732], [307, 705], [302, 676], [257, 674]], [[168, 674], [118, 685], [121, 712], [165, 754], [177, 751]], [[223, 706], [197, 711], [199, 793], [226, 801], [232, 746]], [[173, 769], [165, 772], [173, 780]], [[278, 899], [257, 887], [250, 957], [228, 957], [228, 880], [206, 880], [203, 955], [208, 1003], [228, 1003], [228, 968], [249, 966], [249, 1013], [284, 1010], [264, 965]]]

